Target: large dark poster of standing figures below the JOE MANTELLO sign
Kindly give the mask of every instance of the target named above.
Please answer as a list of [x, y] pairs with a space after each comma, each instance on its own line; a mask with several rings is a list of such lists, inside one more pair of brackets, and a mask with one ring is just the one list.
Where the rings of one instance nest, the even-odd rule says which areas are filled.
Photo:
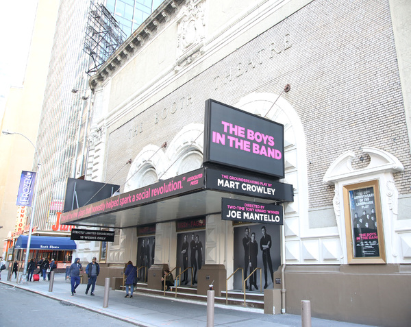
[[246, 291], [262, 291], [273, 288], [273, 273], [281, 265], [281, 244], [279, 225], [253, 224], [234, 228], [234, 289], [242, 289], [242, 279], [254, 269], [260, 269], [247, 280]]

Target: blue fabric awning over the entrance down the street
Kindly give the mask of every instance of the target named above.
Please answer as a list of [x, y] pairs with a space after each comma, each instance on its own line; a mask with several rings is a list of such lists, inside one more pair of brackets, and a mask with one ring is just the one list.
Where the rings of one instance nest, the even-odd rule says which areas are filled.
[[[27, 249], [27, 235], [20, 235], [16, 241], [15, 249]], [[75, 241], [70, 237], [37, 237], [32, 236], [30, 250], [75, 250]]]

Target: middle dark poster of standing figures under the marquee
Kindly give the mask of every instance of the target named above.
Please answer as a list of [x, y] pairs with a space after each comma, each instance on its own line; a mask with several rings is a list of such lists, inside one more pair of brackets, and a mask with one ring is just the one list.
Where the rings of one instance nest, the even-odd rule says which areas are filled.
[[[191, 230], [177, 234], [177, 271], [183, 273], [180, 286], [197, 284], [197, 273], [205, 263], [206, 231]], [[187, 270], [186, 270], [187, 269]]]

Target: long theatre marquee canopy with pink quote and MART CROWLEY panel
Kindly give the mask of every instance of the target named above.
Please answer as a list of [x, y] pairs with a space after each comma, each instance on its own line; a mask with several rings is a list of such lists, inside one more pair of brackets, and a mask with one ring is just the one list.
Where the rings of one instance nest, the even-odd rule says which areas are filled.
[[60, 223], [129, 228], [221, 213], [221, 199], [281, 204], [294, 200], [291, 184], [261, 174], [202, 167], [175, 178], [62, 213]]

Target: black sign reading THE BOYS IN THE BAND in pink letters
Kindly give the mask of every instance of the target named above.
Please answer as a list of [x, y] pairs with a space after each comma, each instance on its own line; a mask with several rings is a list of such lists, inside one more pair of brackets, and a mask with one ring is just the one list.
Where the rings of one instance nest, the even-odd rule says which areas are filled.
[[284, 178], [284, 125], [206, 101], [204, 162]]

